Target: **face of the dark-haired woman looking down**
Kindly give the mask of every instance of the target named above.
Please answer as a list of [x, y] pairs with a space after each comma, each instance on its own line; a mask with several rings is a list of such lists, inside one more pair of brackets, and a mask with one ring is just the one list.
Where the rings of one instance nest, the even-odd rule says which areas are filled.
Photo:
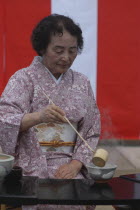
[[77, 56], [77, 38], [67, 31], [63, 35], [52, 35], [51, 41], [43, 55], [43, 64], [56, 77], [65, 73]]

